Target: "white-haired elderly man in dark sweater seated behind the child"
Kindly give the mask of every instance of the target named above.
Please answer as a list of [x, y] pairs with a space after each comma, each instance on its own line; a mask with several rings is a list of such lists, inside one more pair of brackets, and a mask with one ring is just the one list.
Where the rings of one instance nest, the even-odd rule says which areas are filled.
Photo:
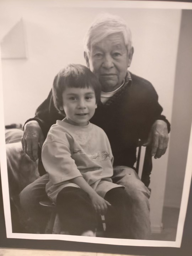
[[[134, 171], [138, 140], [151, 145], [151, 155], [160, 158], [168, 144], [170, 124], [161, 115], [158, 95], [147, 80], [130, 73], [133, 56], [131, 33], [119, 17], [98, 18], [85, 37], [84, 57], [87, 66], [96, 74], [101, 86], [101, 102], [91, 122], [105, 130], [114, 155], [113, 182], [124, 185], [132, 199], [130, 218], [132, 239], [148, 239], [150, 234], [149, 196], [147, 187]], [[24, 126], [22, 145], [34, 161], [38, 159], [38, 144], [52, 124], [64, 117], [53, 103], [52, 91], [37, 108], [36, 116]], [[41, 156], [41, 154], [39, 154]], [[124, 166], [129, 167], [125, 171]], [[39, 172], [44, 174], [39, 159]], [[26, 187], [20, 195], [21, 205], [28, 214], [37, 213], [38, 201], [45, 196], [47, 176]]]

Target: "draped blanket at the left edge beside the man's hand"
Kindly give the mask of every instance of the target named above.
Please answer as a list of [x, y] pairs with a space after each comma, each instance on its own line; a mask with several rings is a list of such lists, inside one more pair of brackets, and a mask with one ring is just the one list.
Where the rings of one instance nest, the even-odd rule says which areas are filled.
[[39, 177], [38, 162], [33, 162], [22, 149], [20, 141], [22, 134], [23, 131], [20, 129], [5, 130], [11, 221], [12, 231], [15, 233], [25, 231], [20, 216], [19, 194], [23, 188]]

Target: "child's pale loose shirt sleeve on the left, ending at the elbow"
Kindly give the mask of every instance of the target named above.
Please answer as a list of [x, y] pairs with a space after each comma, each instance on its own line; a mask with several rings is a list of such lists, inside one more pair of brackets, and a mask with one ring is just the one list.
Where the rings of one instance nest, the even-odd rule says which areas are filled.
[[42, 147], [42, 162], [54, 185], [82, 176], [71, 158], [69, 145], [53, 140]]

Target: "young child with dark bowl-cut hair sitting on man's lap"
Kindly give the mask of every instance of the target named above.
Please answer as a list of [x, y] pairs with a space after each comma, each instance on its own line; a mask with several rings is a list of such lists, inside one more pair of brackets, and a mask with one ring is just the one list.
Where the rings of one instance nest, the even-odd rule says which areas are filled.
[[107, 135], [89, 122], [100, 101], [100, 83], [85, 66], [69, 64], [55, 76], [52, 91], [55, 107], [66, 117], [50, 128], [42, 162], [49, 174], [46, 192], [63, 231], [95, 236], [98, 213], [105, 214], [107, 233], [129, 238], [129, 197], [123, 186], [112, 183]]

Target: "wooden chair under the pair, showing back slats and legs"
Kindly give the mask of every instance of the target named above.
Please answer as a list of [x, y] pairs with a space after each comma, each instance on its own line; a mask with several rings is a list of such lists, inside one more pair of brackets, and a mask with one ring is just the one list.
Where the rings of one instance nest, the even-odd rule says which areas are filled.
[[[141, 151], [142, 151], [142, 144], [139, 142], [137, 164], [135, 167], [135, 171], [137, 172], [137, 174], [139, 173]], [[152, 170], [151, 148], [147, 146], [145, 149], [145, 156], [144, 156], [142, 176], [141, 176], [141, 180], [146, 187], [149, 187], [151, 170]], [[50, 218], [45, 229], [45, 234], [60, 234], [61, 230], [60, 230], [59, 216], [56, 211], [56, 205], [49, 200], [41, 201], [39, 202], [39, 204], [41, 207], [43, 207], [44, 210], [47, 210], [50, 213]], [[97, 236], [103, 236], [103, 231], [105, 231], [105, 229], [106, 229], [105, 217], [98, 215]], [[65, 234], [65, 232], [62, 232], [62, 234]]]

